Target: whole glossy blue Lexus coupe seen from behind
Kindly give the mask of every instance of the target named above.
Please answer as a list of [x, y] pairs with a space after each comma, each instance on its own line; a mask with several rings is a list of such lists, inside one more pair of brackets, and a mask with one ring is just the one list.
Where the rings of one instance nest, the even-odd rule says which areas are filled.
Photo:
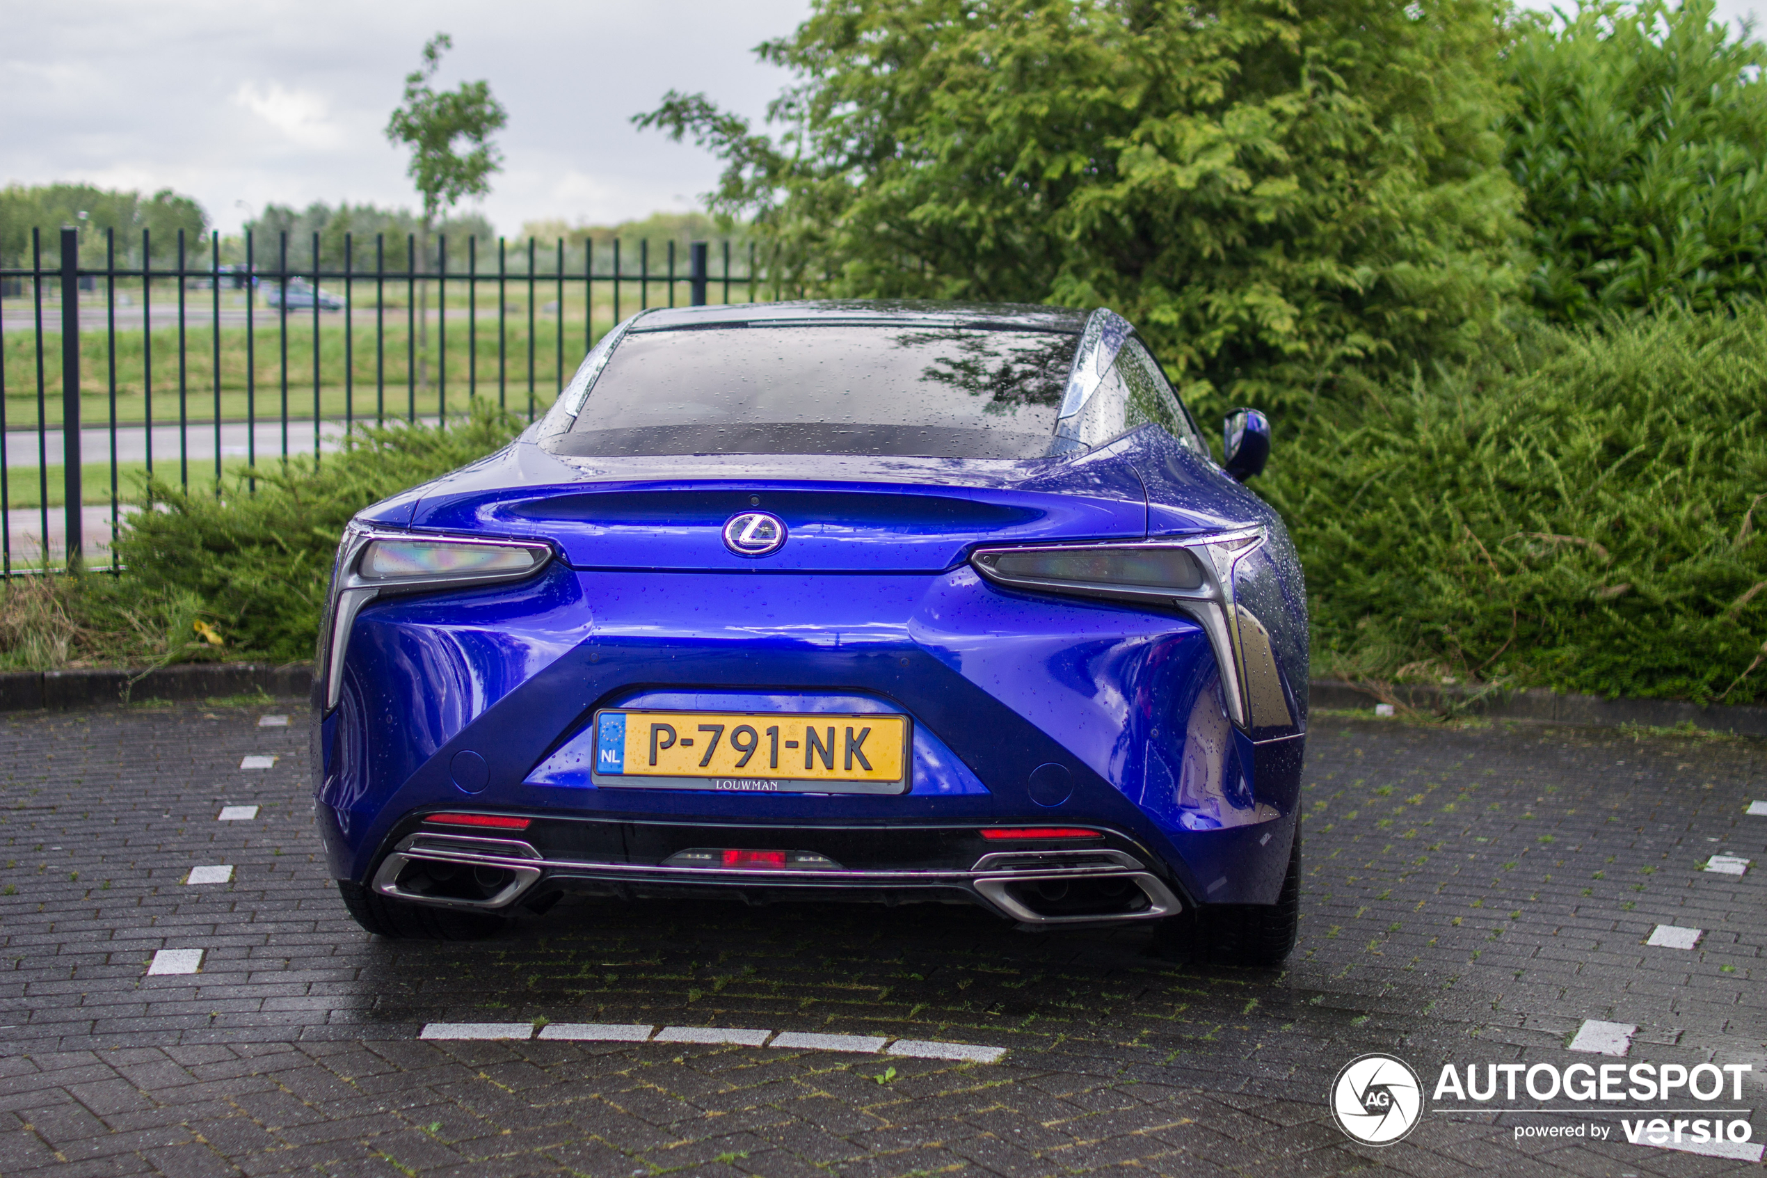
[[1306, 592], [1111, 311], [645, 311], [514, 443], [362, 510], [316, 812], [364, 929], [564, 894], [977, 904], [1276, 964]]

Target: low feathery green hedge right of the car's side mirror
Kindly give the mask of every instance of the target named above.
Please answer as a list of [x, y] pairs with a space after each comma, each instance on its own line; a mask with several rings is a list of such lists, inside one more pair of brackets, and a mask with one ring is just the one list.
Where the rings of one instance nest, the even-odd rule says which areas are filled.
[[1767, 311], [1497, 359], [1276, 452], [1258, 489], [1301, 547], [1315, 671], [1767, 698]]

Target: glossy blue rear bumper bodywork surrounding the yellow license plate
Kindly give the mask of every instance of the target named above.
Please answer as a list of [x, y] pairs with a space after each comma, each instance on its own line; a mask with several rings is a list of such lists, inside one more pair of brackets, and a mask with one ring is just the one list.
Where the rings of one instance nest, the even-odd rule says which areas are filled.
[[[1288, 864], [1304, 736], [1253, 742], [1226, 728], [1214, 655], [1193, 622], [1009, 595], [967, 567], [846, 578], [553, 567], [514, 588], [376, 602], [355, 622], [345, 668], [343, 705], [323, 719], [315, 756], [339, 880], [373, 881], [417, 816], [459, 805], [717, 828], [1081, 823], [1122, 832], [1140, 848], [1127, 853], [1198, 904], [1274, 902]], [[675, 698], [668, 706], [687, 706], [687, 696], [700, 708], [735, 706], [740, 696], [779, 710], [862, 699], [899, 712], [917, 735], [914, 788], [896, 797], [603, 789], [587, 774], [576, 782], [548, 768], [597, 708], [659, 696]], [[1209, 715], [1216, 728], [1191, 722]], [[1051, 774], [1064, 789], [1032, 786]], [[763, 887], [747, 872], [675, 876], [647, 871], [641, 855], [535, 848], [542, 876], [560, 888], [838, 890], [797, 874]], [[977, 858], [841, 887], [1004, 911], [988, 899], [991, 885], [968, 878]]]

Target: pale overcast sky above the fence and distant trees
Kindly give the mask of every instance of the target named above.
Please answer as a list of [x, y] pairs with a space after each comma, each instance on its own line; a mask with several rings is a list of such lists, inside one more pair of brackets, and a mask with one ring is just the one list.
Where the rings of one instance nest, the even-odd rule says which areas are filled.
[[[1763, 0], [1767, 2], [1767, 0]], [[1532, 7], [1550, 7], [1536, 0]], [[1719, 0], [1726, 19], [1755, 0]], [[785, 74], [755, 60], [809, 0], [0, 0], [0, 182], [173, 187], [233, 231], [265, 201], [415, 205], [382, 134], [424, 41], [438, 83], [509, 109], [482, 212], [611, 223], [691, 208], [717, 164], [629, 118], [670, 88], [760, 118]]]

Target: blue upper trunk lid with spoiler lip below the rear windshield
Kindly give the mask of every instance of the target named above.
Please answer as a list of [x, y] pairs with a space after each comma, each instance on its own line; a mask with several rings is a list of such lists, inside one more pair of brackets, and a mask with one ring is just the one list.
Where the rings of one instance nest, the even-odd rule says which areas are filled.
[[[1157, 429], [1124, 434], [1087, 454], [1043, 459], [903, 459], [903, 457], [770, 457], [730, 456], [679, 459], [664, 466], [656, 459], [595, 459], [592, 470], [565, 463], [534, 443], [518, 442], [445, 475], [412, 495], [403, 526], [424, 532], [481, 533], [551, 540], [571, 569], [726, 570], [726, 572], [945, 572], [959, 567], [977, 544], [1048, 544], [1085, 540], [1138, 540], [1150, 533], [1154, 510], [1138, 470], [1157, 449]], [[1161, 438], [1164, 434], [1159, 434]], [[1221, 489], [1210, 493], [1214, 482]], [[961, 512], [949, 530], [931, 516], [906, 514], [896, 526], [878, 523], [876, 551], [861, 537], [836, 542], [839, 516], [822, 505], [809, 512], [786, 512], [795, 535], [776, 555], [735, 558], [709, 528], [703, 505], [682, 526], [666, 532], [657, 521], [654, 537], [641, 535], [638, 516], [622, 516], [622, 496], [666, 496], [670, 493], [740, 495], [728, 514], [769, 510], [769, 495], [830, 496], [935, 496], [975, 505], [1034, 510], [1032, 523], [988, 521]], [[760, 503], [751, 503], [749, 496]], [[608, 496], [608, 526], [597, 523], [594, 502]], [[1157, 532], [1217, 532], [1260, 523], [1246, 517], [1240, 498], [1249, 498], [1223, 479], [1205, 479], [1161, 507]], [[548, 512], [548, 500], [573, 500]], [[406, 500], [410, 502], [410, 500]], [[714, 512], [717, 509], [712, 509]], [[403, 514], [403, 512], [401, 512]], [[892, 512], [884, 512], [891, 516]], [[650, 512], [654, 517], [654, 512]], [[919, 516], [919, 521], [917, 521]], [[717, 519], [721, 526], [724, 517]], [[693, 539], [689, 533], [705, 533]], [[820, 535], [820, 539], [816, 539]], [[806, 544], [809, 540], [809, 544]], [[820, 549], [820, 551], [818, 551]]]

